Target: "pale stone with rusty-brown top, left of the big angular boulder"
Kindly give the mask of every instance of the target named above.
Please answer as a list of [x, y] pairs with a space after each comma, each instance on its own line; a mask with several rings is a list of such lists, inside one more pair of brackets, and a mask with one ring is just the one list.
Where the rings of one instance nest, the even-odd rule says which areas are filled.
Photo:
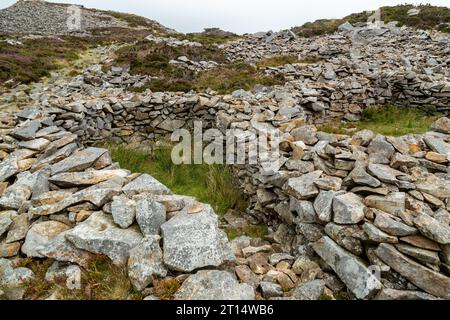
[[45, 221], [35, 223], [27, 233], [22, 252], [27, 257], [42, 258], [39, 249], [48, 244], [60, 233], [69, 230], [70, 227], [58, 221]]

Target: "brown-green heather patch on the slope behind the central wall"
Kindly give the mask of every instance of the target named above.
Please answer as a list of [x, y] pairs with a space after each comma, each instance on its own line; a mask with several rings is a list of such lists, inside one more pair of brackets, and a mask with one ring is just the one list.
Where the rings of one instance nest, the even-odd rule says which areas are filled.
[[[196, 73], [170, 64], [170, 60], [186, 56], [192, 61], [212, 60], [219, 67]], [[203, 47], [170, 47], [140, 41], [116, 52], [115, 65], [129, 66], [131, 74], [158, 77], [136, 91], [204, 91], [208, 88], [221, 94], [238, 89], [251, 90], [257, 84], [272, 86], [283, 84], [282, 75], [266, 75], [246, 63], [227, 63], [224, 52], [214, 45]]]

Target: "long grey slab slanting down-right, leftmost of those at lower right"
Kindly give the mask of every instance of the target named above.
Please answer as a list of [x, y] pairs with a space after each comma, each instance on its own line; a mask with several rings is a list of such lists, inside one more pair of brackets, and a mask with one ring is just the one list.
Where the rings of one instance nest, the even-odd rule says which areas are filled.
[[358, 299], [371, 298], [382, 288], [381, 282], [361, 260], [330, 238], [323, 237], [315, 242], [313, 249]]

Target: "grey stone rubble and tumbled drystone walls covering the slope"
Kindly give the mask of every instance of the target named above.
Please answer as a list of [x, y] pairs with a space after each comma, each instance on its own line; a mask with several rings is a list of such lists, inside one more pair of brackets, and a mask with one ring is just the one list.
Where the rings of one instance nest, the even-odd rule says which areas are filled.
[[[393, 24], [344, 24], [308, 41], [246, 35], [220, 45], [230, 61], [294, 55], [299, 63], [264, 67], [284, 85], [225, 95], [135, 93], [155, 77], [101, 64], [9, 89], [0, 117], [0, 297], [29, 298], [37, 274], [26, 258], [54, 261], [44, 276], [59, 287], [35, 298], [57, 299], [106, 257], [148, 300], [449, 299], [449, 41]], [[116, 49], [96, 49], [96, 62]], [[172, 63], [217, 67], [189, 57]], [[442, 117], [425, 134], [401, 137], [314, 126], [358, 121], [386, 103]], [[233, 166], [248, 218], [225, 217], [228, 226], [267, 224], [265, 239], [229, 241], [211, 206], [121, 169], [95, 146], [159, 140], [194, 120], [236, 135], [281, 132], [276, 170]], [[170, 296], [160, 294], [161, 279], [175, 279]]]

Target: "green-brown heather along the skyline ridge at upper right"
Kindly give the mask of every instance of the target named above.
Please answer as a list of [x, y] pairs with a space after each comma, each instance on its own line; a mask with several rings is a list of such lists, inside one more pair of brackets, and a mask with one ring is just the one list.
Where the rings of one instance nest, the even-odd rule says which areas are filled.
[[[409, 16], [407, 13], [412, 8], [420, 9], [416, 16]], [[357, 22], [367, 22], [371, 13], [360, 12], [346, 16], [342, 19], [320, 19], [308, 22], [292, 30], [303, 37], [313, 37], [322, 34], [334, 33], [337, 28], [348, 21], [352, 24]], [[392, 7], [381, 7], [381, 20], [388, 23], [398, 21], [399, 26], [410, 26], [419, 29], [436, 29], [442, 32], [450, 32], [450, 27], [446, 23], [450, 22], [450, 9], [447, 7], [436, 7], [431, 5], [398, 5]]]

